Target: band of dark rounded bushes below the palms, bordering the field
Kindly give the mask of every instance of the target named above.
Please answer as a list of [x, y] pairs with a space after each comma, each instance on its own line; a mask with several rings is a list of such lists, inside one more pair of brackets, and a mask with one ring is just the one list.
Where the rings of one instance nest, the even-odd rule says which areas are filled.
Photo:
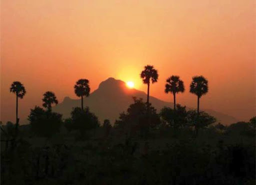
[[[45, 97], [43, 98], [45, 100]], [[45, 104], [45, 102], [43, 103]], [[244, 134], [253, 135], [256, 125], [256, 116], [248, 122], [240, 121], [225, 126], [221, 123], [216, 124], [216, 119], [204, 111], [199, 114], [196, 110], [187, 110], [186, 106], [176, 105], [176, 109], [163, 107], [159, 113], [149, 103], [144, 102], [141, 98], [133, 97], [133, 103], [129, 105], [126, 112], [121, 112], [119, 118], [113, 125], [108, 119], [105, 119], [100, 126], [97, 116], [89, 111], [88, 107], [81, 109], [74, 107], [70, 112], [70, 118], [62, 119], [62, 115], [52, 112], [48, 106], [43, 109], [35, 106], [30, 110], [28, 116], [28, 128], [37, 136], [51, 137], [60, 131], [61, 127], [67, 132], [76, 130], [79, 132], [77, 138], [87, 138], [87, 133], [93, 129], [101, 127], [108, 135], [111, 128], [128, 136], [139, 136], [146, 138], [154, 130], [171, 129], [173, 133], [178, 134], [180, 129], [189, 129], [193, 136], [198, 134], [200, 129], [214, 127], [219, 131], [238, 129], [243, 130]], [[213, 124], [215, 123], [215, 124]], [[239, 126], [237, 126], [239, 125]], [[8, 135], [15, 136], [15, 125], [7, 121], [1, 127], [6, 130]], [[238, 128], [236, 128], [238, 127]], [[3, 130], [4, 131], [4, 130]]]

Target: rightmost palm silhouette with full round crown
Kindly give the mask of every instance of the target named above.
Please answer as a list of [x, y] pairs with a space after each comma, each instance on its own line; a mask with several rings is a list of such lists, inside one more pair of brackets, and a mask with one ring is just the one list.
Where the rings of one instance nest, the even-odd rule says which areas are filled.
[[190, 84], [190, 92], [197, 95], [197, 114], [199, 114], [199, 99], [208, 92], [208, 80], [202, 75], [193, 76]]

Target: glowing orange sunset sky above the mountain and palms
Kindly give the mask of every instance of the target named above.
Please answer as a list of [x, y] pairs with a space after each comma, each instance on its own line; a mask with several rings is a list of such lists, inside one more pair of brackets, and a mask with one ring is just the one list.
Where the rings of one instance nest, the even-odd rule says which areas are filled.
[[209, 92], [201, 108], [248, 120], [255, 115], [254, 0], [1, 0], [0, 113], [15, 119], [12, 81], [27, 94], [20, 118], [54, 91], [59, 101], [76, 98], [74, 82], [88, 78], [92, 91], [108, 77], [134, 81], [158, 69], [150, 95], [172, 101], [165, 79], [178, 74], [185, 93], [177, 102], [196, 106], [191, 77], [202, 74]]

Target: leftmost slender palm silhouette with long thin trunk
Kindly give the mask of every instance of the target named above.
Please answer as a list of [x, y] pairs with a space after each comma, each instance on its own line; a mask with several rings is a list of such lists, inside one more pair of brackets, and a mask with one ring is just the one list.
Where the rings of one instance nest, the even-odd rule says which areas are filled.
[[16, 94], [16, 125], [15, 125], [15, 132], [17, 134], [17, 129], [18, 129], [18, 98], [22, 99], [23, 96], [26, 93], [25, 87], [22, 83], [19, 81], [13, 81], [10, 85], [10, 92]]

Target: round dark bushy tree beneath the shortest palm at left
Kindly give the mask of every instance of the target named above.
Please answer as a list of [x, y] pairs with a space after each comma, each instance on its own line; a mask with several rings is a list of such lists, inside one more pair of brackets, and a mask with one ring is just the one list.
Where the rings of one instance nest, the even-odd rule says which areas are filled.
[[49, 137], [58, 132], [62, 123], [62, 115], [56, 112], [45, 111], [39, 106], [30, 110], [28, 120], [31, 129], [39, 136]]

